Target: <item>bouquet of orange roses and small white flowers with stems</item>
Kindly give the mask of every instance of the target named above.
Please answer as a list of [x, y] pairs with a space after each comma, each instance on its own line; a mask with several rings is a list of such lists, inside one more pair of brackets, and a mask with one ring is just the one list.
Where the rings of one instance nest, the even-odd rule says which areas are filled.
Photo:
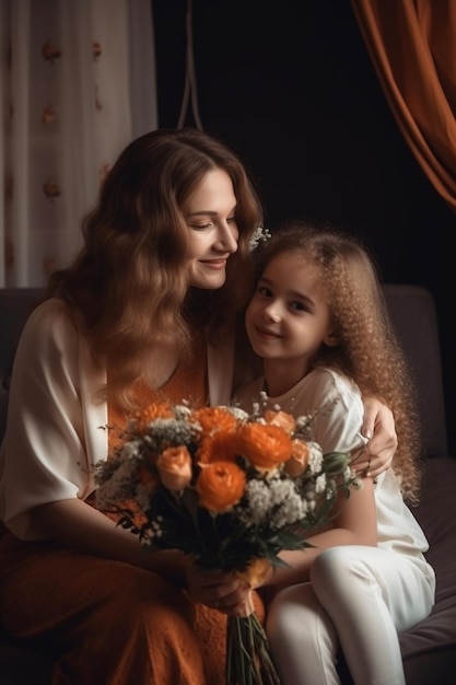
[[[359, 485], [349, 455], [323, 454], [308, 440], [311, 421], [260, 404], [252, 414], [152, 405], [97, 468], [97, 507], [117, 510], [119, 525], [144, 547], [179, 549], [255, 588], [270, 566], [283, 565], [282, 549], [308, 546], [306, 536], [328, 523], [341, 489], [348, 496]], [[249, 611], [227, 619], [226, 684], [279, 684]]]

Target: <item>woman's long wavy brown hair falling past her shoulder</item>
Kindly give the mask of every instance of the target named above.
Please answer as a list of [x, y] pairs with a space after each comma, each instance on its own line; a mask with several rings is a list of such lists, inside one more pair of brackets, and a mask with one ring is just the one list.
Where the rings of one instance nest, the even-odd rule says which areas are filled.
[[[189, 230], [182, 208], [218, 169], [233, 182], [238, 249], [227, 262], [223, 288], [196, 291], [188, 282]], [[197, 313], [226, 320], [244, 304], [253, 274], [249, 241], [261, 221], [244, 165], [213, 137], [159, 129], [124, 150], [83, 221], [80, 254], [48, 286], [49, 297], [72, 306], [95, 360], [107, 362], [109, 396], [120, 406], [131, 406], [131, 385], [154, 345], [178, 344], [184, 355]]]

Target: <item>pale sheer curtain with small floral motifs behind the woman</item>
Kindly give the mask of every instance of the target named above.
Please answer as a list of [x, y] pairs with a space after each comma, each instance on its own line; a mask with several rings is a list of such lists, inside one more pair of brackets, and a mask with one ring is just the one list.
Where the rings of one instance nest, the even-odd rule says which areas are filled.
[[0, 287], [43, 286], [121, 149], [157, 127], [151, 1], [0, 0]]

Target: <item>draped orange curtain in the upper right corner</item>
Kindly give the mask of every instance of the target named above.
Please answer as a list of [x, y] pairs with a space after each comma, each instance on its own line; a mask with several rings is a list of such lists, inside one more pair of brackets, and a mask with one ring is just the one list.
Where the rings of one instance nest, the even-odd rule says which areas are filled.
[[456, 2], [351, 0], [389, 106], [456, 211]]

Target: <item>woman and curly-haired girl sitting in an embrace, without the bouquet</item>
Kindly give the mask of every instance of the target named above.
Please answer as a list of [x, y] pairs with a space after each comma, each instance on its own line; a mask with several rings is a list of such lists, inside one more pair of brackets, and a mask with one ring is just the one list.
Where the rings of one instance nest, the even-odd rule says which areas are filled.
[[[265, 581], [283, 683], [337, 683], [339, 647], [356, 683], [404, 682], [397, 630], [433, 601], [425, 539], [402, 500], [417, 486], [406, 370], [363, 252], [324, 233], [319, 244], [301, 227], [285, 249], [273, 237], [260, 251], [250, 356], [242, 313], [261, 223], [243, 164], [220, 141], [197, 130], [142, 136], [25, 325], [0, 452], [0, 609], [9, 636], [52, 657], [52, 685], [224, 683], [226, 615], [242, 612], [249, 588], [177, 552], [144, 554], [93, 506], [94, 465], [115, 440], [102, 427], [126, 426], [139, 407], [249, 402], [264, 387], [291, 411], [340, 397], [316, 439], [362, 448], [364, 476], [334, 530], [312, 552], [283, 553], [293, 570]], [[292, 249], [296, 233], [304, 242]], [[241, 386], [259, 358], [264, 378]], [[255, 602], [265, 616], [261, 590]]]

